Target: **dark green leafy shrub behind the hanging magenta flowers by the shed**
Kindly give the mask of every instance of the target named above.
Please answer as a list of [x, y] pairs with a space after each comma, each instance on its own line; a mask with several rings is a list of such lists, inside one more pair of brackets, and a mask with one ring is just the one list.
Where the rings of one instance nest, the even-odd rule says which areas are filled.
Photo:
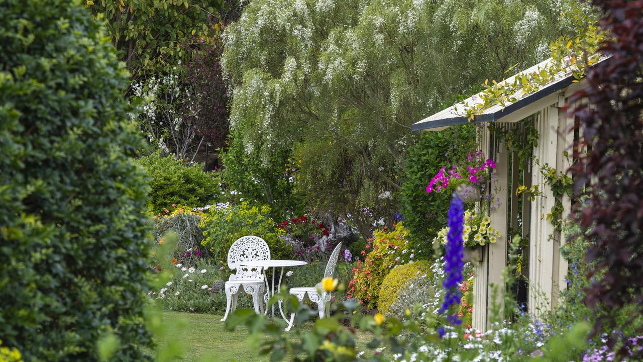
[[475, 147], [475, 129], [461, 126], [424, 132], [409, 150], [401, 189], [401, 213], [404, 225], [411, 231], [413, 248], [423, 256], [433, 254], [428, 241], [446, 225], [451, 200], [448, 193], [427, 193], [426, 186], [441, 167], [466, 160]]

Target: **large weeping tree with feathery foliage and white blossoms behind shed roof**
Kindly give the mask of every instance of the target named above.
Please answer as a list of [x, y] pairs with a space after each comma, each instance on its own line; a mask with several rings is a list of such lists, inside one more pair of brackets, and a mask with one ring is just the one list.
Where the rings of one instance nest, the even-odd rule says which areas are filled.
[[287, 149], [307, 205], [368, 233], [397, 207], [411, 124], [548, 57], [572, 10], [588, 11], [570, 0], [251, 1], [224, 33], [231, 128], [264, 165]]

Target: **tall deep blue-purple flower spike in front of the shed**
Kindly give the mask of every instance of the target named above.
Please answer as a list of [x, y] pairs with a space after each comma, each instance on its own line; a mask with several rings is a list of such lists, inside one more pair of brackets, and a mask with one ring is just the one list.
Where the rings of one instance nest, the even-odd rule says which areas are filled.
[[[453, 195], [449, 207], [449, 233], [447, 234], [446, 252], [444, 254], [444, 282], [442, 287], [446, 290], [444, 301], [440, 307], [440, 313], [445, 314], [453, 305], [460, 304], [459, 285], [462, 283], [462, 268], [464, 267], [464, 243], [462, 243], [462, 232], [464, 229], [464, 210], [462, 200]], [[457, 314], [449, 314], [447, 320], [452, 325], [460, 325], [462, 321]]]

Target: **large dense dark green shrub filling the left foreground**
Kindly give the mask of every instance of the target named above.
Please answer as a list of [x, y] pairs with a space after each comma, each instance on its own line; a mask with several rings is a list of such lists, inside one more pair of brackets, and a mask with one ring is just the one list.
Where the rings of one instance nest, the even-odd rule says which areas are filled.
[[25, 361], [145, 359], [144, 146], [127, 73], [78, 1], [0, 2], [0, 336]]

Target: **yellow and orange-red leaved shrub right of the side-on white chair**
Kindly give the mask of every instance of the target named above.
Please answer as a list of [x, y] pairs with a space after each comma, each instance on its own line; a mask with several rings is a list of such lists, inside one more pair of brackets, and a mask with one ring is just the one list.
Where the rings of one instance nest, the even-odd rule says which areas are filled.
[[409, 231], [401, 222], [395, 229], [388, 227], [377, 230], [372, 243], [372, 251], [362, 263], [353, 269], [353, 279], [349, 283], [349, 296], [358, 298], [369, 308], [377, 306], [380, 285], [395, 265], [410, 262], [415, 257], [414, 250], [407, 249]]

